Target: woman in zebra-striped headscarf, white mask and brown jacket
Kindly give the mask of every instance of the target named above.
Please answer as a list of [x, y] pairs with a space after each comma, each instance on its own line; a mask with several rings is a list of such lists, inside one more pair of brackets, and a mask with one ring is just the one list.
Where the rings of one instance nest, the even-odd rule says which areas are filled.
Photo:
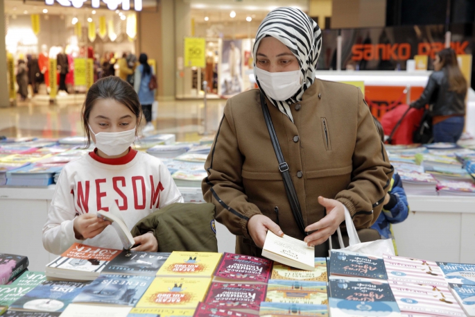
[[[216, 219], [236, 234], [238, 253], [261, 255], [271, 230], [325, 257], [345, 209], [356, 229], [370, 228], [381, 212], [392, 166], [361, 90], [316, 78], [321, 46], [320, 28], [304, 12], [271, 11], [253, 49], [259, 89], [227, 101], [202, 191]], [[277, 160], [266, 108], [286, 164]], [[300, 221], [281, 175], [287, 168]]]

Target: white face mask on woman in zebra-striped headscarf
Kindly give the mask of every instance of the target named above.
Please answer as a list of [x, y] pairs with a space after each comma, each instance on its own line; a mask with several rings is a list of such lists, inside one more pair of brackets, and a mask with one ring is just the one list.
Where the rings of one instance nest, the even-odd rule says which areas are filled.
[[264, 69], [256, 67], [256, 75], [259, 84], [269, 98], [284, 101], [291, 98], [302, 83], [300, 80], [301, 71], [282, 71], [279, 73], [269, 73]]

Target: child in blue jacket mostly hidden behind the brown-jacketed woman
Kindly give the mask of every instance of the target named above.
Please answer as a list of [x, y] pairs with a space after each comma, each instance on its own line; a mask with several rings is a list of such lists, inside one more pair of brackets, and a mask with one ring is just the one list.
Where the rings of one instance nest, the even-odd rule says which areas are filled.
[[[374, 123], [381, 136], [381, 142], [384, 142], [384, 131], [381, 123], [374, 118]], [[409, 205], [407, 202], [406, 191], [402, 187], [402, 181], [399, 174], [395, 171], [392, 174], [392, 179], [389, 187], [388, 194], [384, 198], [383, 211], [379, 214], [378, 219], [371, 226], [372, 229], [378, 230], [381, 234], [381, 239], [392, 239], [394, 250], [397, 255], [396, 241], [394, 234], [392, 234], [392, 223], [401, 223], [406, 220], [409, 214]]]

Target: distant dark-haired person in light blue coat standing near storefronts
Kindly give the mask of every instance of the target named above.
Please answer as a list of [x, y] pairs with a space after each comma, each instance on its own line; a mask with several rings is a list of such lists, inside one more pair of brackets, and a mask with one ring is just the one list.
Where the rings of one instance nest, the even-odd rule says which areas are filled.
[[148, 65], [148, 57], [141, 53], [139, 56], [140, 65], [135, 69], [134, 89], [139, 95], [142, 111], [147, 121], [144, 132], [153, 130], [152, 124], [152, 103], [155, 101], [155, 90], [150, 90], [150, 80], [153, 69]]

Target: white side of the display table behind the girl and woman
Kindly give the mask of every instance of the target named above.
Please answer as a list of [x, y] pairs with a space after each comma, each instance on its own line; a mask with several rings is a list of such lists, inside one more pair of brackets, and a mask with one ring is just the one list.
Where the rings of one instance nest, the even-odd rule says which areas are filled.
[[[56, 257], [42, 243], [54, 188], [0, 187], [0, 252], [27, 255], [31, 271], [44, 271]], [[202, 200], [200, 188], [180, 191], [186, 201]], [[408, 202], [408, 219], [393, 226], [399, 255], [475, 263], [475, 198], [408, 196]], [[234, 235], [220, 223], [216, 223], [216, 232], [218, 251], [234, 252]]]

